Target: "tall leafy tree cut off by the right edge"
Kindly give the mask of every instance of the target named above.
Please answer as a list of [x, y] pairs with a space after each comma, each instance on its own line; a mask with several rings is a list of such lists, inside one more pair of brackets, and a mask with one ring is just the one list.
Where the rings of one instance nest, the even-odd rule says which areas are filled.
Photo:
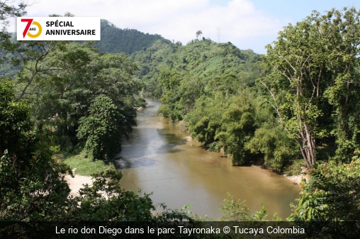
[[324, 96], [333, 107], [336, 157], [351, 162], [354, 150], [360, 149], [360, 11], [333, 9], [314, 23], [328, 36], [322, 43], [331, 82]]

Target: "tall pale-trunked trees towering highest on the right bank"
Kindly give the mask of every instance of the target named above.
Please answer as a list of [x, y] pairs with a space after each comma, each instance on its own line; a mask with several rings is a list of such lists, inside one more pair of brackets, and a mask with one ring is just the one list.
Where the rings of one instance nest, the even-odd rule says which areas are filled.
[[[344, 144], [347, 152], [359, 147], [350, 113], [358, 112], [359, 26], [354, 9], [333, 9], [324, 16], [314, 11], [266, 46], [263, 66], [270, 74], [261, 79], [269, 92], [264, 100], [276, 110], [308, 168], [316, 162], [317, 141], [331, 133], [337, 137], [338, 151]], [[338, 127], [332, 131], [334, 123]]]

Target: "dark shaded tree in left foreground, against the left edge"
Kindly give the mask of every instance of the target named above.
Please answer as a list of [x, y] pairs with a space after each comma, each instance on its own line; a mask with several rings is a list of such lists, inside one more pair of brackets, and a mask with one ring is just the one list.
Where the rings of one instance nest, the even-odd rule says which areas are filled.
[[[53, 136], [31, 133], [30, 106], [16, 101], [9, 80], [0, 82], [0, 220], [44, 220], [64, 212], [70, 169], [51, 158]], [[39, 142], [40, 141], [40, 142]], [[54, 145], [52, 145], [54, 146]]]

